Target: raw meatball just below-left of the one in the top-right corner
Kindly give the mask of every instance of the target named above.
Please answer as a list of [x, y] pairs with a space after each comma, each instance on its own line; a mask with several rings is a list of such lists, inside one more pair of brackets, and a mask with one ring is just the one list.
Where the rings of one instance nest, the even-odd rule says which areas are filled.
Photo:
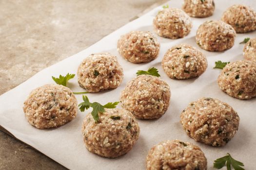
[[236, 31], [223, 21], [206, 21], [199, 26], [196, 41], [207, 51], [224, 51], [234, 46]]

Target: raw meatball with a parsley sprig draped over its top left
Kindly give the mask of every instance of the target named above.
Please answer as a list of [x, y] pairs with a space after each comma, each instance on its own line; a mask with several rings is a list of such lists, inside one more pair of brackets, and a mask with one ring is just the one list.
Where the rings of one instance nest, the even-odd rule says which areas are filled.
[[83, 141], [91, 153], [115, 158], [129, 152], [138, 140], [139, 126], [130, 111], [105, 109], [99, 121], [87, 114], [82, 124]]

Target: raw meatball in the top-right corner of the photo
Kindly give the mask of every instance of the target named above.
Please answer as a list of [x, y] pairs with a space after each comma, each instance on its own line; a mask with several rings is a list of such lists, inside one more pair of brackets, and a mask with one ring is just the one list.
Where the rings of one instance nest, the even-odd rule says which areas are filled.
[[256, 30], [256, 12], [246, 5], [233, 5], [222, 15], [221, 20], [230, 24], [236, 33]]

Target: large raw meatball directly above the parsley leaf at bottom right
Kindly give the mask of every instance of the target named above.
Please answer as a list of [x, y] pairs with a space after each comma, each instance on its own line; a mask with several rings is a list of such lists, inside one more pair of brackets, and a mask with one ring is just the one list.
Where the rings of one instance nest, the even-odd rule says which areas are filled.
[[212, 98], [191, 102], [180, 115], [188, 136], [212, 146], [226, 145], [236, 134], [239, 120], [230, 105]]

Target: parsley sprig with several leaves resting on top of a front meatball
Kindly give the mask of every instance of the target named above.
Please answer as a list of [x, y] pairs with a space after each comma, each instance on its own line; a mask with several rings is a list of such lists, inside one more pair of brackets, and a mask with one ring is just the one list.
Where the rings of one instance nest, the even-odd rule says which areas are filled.
[[81, 112], [84, 112], [84, 110], [88, 110], [90, 107], [93, 108], [93, 111], [91, 112], [93, 119], [95, 120], [95, 122], [98, 122], [99, 117], [98, 117], [98, 113], [103, 113], [105, 112], [105, 108], [108, 109], [113, 109], [116, 108], [119, 102], [108, 102], [105, 105], [101, 105], [98, 102], [89, 102], [89, 99], [87, 96], [83, 95], [83, 102], [81, 102], [78, 106]]

